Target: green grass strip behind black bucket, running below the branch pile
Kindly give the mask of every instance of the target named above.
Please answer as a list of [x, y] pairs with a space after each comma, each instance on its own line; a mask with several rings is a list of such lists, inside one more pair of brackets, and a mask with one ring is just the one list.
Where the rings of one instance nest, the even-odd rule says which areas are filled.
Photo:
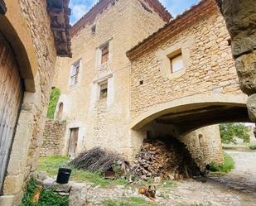
[[[48, 175], [54, 176], [58, 174], [59, 168], [69, 161], [70, 159], [65, 156], [41, 157], [37, 170], [46, 171]], [[95, 185], [100, 185], [102, 187], [128, 184], [128, 180], [105, 180], [100, 173], [92, 173], [85, 170], [75, 170], [72, 167], [70, 167], [70, 169], [72, 169], [70, 180], [85, 181]]]

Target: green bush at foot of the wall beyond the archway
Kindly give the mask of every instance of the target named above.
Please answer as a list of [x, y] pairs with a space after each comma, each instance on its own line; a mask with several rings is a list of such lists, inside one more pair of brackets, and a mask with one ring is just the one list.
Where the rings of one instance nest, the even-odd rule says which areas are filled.
[[210, 164], [210, 171], [213, 172], [225, 172], [228, 173], [229, 171], [234, 169], [234, 160], [231, 156], [227, 153], [224, 153], [225, 163], [223, 165], [217, 165], [215, 163]]

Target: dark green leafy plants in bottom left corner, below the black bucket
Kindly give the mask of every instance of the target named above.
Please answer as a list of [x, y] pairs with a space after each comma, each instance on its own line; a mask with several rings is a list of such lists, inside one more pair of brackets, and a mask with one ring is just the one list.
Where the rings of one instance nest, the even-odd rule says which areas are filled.
[[39, 186], [35, 180], [30, 180], [27, 184], [27, 191], [22, 198], [22, 204], [20, 206], [68, 206], [69, 199], [62, 197], [59, 194], [55, 194], [53, 190], [41, 189], [40, 198], [34, 201], [34, 195], [36, 189]]

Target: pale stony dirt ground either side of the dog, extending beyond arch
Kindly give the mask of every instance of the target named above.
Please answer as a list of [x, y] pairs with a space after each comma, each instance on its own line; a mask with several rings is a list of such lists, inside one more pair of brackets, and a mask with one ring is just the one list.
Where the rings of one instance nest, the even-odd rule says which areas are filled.
[[[158, 185], [157, 204], [256, 206], [256, 152], [228, 153], [235, 161], [235, 169], [228, 175], [182, 180], [174, 186]], [[104, 199], [134, 197], [138, 196], [137, 190], [137, 186], [98, 187], [89, 191], [89, 202], [99, 204]]]

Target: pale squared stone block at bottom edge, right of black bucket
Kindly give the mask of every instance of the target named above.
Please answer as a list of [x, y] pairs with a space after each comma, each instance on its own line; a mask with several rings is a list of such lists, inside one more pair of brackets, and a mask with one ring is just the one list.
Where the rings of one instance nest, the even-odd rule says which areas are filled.
[[88, 206], [87, 185], [83, 183], [73, 183], [70, 189], [70, 206]]

